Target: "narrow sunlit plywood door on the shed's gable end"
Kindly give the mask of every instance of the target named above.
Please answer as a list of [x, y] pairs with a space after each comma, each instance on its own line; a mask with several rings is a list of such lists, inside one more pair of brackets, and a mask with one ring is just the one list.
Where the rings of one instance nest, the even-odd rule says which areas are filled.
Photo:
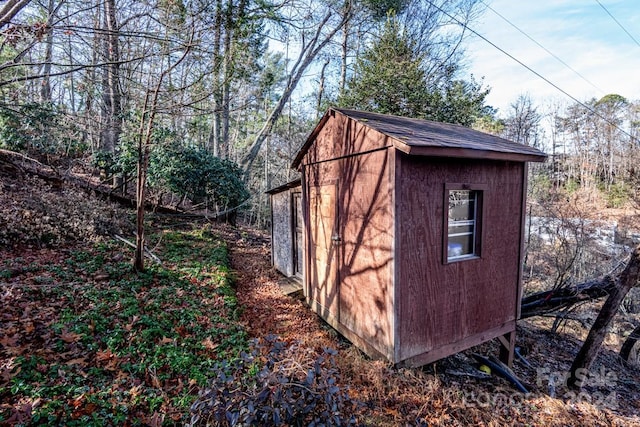
[[320, 305], [322, 314], [338, 320], [338, 249], [335, 184], [311, 187], [309, 194], [311, 265], [309, 296]]

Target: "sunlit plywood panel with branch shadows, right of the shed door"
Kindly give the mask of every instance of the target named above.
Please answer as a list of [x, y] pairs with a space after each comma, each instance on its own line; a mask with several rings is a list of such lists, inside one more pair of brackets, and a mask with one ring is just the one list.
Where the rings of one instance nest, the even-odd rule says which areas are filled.
[[386, 354], [393, 347], [389, 152], [340, 163], [340, 321]]

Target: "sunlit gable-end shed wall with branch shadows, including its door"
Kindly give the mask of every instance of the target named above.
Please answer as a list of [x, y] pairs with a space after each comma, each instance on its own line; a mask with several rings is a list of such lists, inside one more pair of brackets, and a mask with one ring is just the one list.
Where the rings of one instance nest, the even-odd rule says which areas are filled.
[[[346, 328], [385, 356], [393, 350], [392, 187], [386, 142], [377, 131], [337, 115], [303, 160], [310, 226], [307, 299], [330, 324]], [[335, 188], [335, 197], [327, 194], [333, 191], [329, 188]], [[331, 198], [335, 210], [327, 206]], [[329, 211], [337, 218], [327, 218]], [[326, 265], [329, 260], [335, 260], [337, 269]]]

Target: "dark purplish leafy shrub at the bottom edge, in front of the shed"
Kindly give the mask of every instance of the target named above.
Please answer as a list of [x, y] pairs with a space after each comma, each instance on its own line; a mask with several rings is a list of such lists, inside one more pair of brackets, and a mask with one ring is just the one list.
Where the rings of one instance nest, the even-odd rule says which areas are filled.
[[356, 425], [360, 403], [338, 386], [336, 352], [307, 354], [301, 362], [300, 350], [269, 336], [254, 342], [250, 354], [218, 365], [191, 406], [190, 425]]

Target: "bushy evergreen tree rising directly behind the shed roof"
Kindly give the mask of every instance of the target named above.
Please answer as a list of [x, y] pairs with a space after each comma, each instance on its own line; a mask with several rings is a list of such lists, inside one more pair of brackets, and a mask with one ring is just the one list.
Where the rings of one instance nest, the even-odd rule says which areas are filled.
[[378, 41], [356, 61], [338, 105], [464, 126], [492, 111], [484, 103], [489, 90], [481, 83], [455, 79], [457, 66], [451, 64], [435, 67], [439, 74], [428, 74], [426, 62], [398, 20], [389, 16]]

